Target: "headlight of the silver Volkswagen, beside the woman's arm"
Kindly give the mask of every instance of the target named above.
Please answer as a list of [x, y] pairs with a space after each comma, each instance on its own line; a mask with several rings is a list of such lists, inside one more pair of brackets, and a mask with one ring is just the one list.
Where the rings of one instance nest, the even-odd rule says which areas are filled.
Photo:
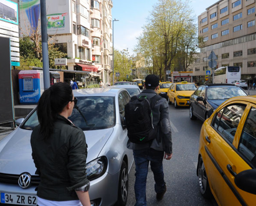
[[108, 160], [106, 157], [100, 157], [93, 161], [90, 161], [86, 165], [86, 173], [88, 180], [94, 180], [103, 176], [107, 170]]

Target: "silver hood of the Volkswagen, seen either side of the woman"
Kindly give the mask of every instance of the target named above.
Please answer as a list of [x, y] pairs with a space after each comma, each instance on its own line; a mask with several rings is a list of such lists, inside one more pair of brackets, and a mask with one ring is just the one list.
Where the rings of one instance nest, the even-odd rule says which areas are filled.
[[[113, 132], [113, 128], [97, 131], [85, 131], [88, 145], [87, 162], [98, 157]], [[32, 131], [17, 128], [0, 142], [0, 173], [20, 175], [23, 172], [35, 174], [35, 165], [32, 159], [30, 135]]]

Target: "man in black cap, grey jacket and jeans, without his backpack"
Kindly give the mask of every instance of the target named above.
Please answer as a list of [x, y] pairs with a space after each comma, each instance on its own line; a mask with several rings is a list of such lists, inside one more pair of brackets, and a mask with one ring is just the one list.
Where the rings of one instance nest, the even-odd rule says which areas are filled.
[[[149, 100], [148, 102], [150, 104], [153, 102], [153, 105], [151, 104], [152, 128], [156, 129], [156, 133], [154, 133], [156, 135], [155, 138], [149, 140], [149, 142], [145, 142], [143, 144], [132, 143], [132, 138], [129, 136], [129, 132], [132, 133], [132, 131], [129, 131], [129, 123], [127, 121], [129, 137], [127, 148], [133, 150], [136, 167], [136, 180], [134, 186], [136, 197], [135, 206], [147, 205], [146, 182], [149, 162], [155, 179], [156, 199], [158, 201], [162, 200], [163, 195], [167, 190], [166, 182], [163, 178], [162, 160], [163, 158], [170, 160], [172, 157], [171, 128], [169, 121], [168, 103], [165, 99], [156, 96], [156, 91], [159, 87], [159, 78], [156, 75], [149, 74], [145, 79], [144, 86], [146, 90], [143, 90], [140, 94], [138, 94], [137, 98], [138, 100], [147, 99], [147, 101]], [[143, 133], [144, 128], [139, 128], [141, 128], [141, 132]], [[139, 140], [141, 141], [144, 138], [145, 137], [142, 137]]]

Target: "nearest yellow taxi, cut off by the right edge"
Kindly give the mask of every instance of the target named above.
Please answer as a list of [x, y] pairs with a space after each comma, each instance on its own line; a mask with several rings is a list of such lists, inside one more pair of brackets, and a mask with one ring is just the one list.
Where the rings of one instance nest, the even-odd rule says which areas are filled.
[[256, 205], [256, 95], [233, 97], [204, 121], [197, 175], [218, 205]]

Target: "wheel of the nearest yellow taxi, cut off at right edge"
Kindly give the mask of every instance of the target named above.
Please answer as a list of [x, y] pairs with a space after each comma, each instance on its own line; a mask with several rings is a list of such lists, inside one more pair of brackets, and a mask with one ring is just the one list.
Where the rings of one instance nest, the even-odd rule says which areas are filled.
[[206, 174], [206, 168], [204, 167], [203, 159], [202, 157], [198, 160], [198, 167], [197, 167], [198, 177], [199, 177], [199, 188], [202, 196], [206, 199], [209, 199], [212, 197], [211, 189], [209, 186], [207, 174]]

